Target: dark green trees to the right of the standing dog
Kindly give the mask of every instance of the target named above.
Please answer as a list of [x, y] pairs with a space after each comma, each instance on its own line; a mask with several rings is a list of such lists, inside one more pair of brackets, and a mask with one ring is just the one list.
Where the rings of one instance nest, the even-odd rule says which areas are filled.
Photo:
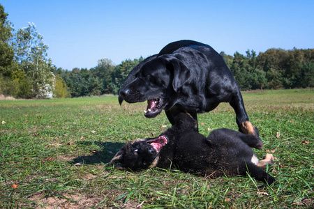
[[314, 86], [314, 49], [254, 50], [234, 56], [220, 52], [242, 91]]

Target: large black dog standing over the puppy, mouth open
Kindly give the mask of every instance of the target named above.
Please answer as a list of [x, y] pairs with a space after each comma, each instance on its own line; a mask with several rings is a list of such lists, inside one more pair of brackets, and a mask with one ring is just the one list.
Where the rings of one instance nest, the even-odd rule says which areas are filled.
[[[131, 70], [121, 87], [120, 104], [123, 100], [129, 103], [147, 100], [147, 118], [156, 117], [165, 109], [172, 125], [180, 112], [188, 111], [197, 121], [197, 113], [229, 102], [236, 112], [239, 131], [260, 140], [257, 128], [248, 121], [239, 86], [223, 57], [201, 42], [172, 42], [159, 54], [145, 59]], [[260, 140], [257, 148], [262, 146]]]

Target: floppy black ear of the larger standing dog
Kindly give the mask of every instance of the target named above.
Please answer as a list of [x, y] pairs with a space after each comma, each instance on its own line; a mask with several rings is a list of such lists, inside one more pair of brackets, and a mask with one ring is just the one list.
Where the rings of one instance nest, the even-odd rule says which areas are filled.
[[176, 59], [172, 60], [171, 63], [173, 68], [172, 87], [174, 91], [177, 92], [178, 89], [181, 88], [190, 77], [190, 70], [186, 68], [184, 63], [181, 63], [181, 61]]

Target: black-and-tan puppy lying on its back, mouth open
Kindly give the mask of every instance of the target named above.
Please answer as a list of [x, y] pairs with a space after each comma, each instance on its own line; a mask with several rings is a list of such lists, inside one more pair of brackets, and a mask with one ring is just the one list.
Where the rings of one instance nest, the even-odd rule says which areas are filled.
[[259, 140], [229, 129], [214, 130], [209, 137], [195, 132], [196, 121], [178, 114], [176, 124], [157, 138], [137, 139], [124, 145], [111, 160], [117, 169], [148, 169], [171, 166], [202, 176], [235, 176], [250, 173], [256, 180], [271, 185], [275, 179], [261, 168], [273, 164], [272, 155], [258, 161], [253, 150]]

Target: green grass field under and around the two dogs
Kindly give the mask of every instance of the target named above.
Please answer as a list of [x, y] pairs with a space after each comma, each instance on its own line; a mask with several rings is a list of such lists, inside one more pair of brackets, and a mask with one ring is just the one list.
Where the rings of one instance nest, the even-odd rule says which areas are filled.
[[[174, 170], [106, 167], [126, 142], [158, 136], [165, 113], [116, 96], [0, 100], [0, 208], [313, 208], [314, 89], [244, 93], [251, 122], [272, 153], [276, 185], [250, 177], [208, 179]], [[200, 132], [237, 130], [229, 104], [198, 116]]]

